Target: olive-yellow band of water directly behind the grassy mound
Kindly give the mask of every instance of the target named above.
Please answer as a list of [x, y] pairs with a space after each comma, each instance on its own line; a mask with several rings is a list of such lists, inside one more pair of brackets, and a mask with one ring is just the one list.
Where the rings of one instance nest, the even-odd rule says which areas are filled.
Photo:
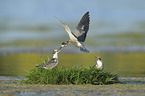
[[[89, 53], [89, 54], [59, 54], [58, 67], [93, 66], [96, 64], [95, 56], [102, 58], [104, 70], [119, 74], [119, 76], [140, 77], [145, 76], [144, 53]], [[41, 64], [43, 60], [52, 57], [50, 54], [11, 54], [0, 56], [0, 75], [21, 76], [27, 71]], [[43, 61], [42, 60], [42, 61]]]

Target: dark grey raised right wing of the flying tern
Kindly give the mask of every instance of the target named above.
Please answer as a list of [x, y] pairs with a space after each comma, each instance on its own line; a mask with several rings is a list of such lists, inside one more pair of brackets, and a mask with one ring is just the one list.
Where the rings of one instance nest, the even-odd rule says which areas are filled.
[[87, 32], [89, 30], [89, 12], [85, 13], [85, 15], [81, 18], [79, 24], [76, 26], [75, 36], [78, 41], [84, 42], [86, 39]]

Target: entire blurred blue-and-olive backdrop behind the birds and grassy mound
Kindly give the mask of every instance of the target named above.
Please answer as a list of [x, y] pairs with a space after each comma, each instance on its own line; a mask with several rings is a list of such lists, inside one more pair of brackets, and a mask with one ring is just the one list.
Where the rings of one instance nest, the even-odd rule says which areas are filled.
[[[24, 74], [25, 70], [34, 68], [32, 63], [38, 63], [42, 53], [51, 56], [52, 50], [68, 39], [55, 16], [74, 32], [80, 18], [90, 11], [85, 46], [94, 55], [85, 54], [77, 61], [79, 55], [76, 58], [61, 55], [60, 66], [68, 66], [70, 62], [71, 66], [90, 62], [93, 65], [95, 60], [92, 58], [97, 55], [104, 59], [108, 71], [121, 72], [122, 76], [144, 76], [144, 4], [144, 0], [1, 0], [0, 75]], [[67, 47], [63, 53], [81, 52]]]

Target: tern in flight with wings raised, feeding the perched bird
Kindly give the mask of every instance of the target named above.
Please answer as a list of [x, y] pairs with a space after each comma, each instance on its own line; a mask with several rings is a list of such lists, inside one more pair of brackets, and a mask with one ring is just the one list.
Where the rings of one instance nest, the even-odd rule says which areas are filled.
[[77, 48], [80, 48], [82, 52], [89, 53], [89, 51], [84, 46], [84, 41], [86, 39], [87, 32], [89, 30], [89, 22], [90, 22], [89, 12], [86, 12], [84, 16], [81, 18], [80, 22], [76, 26], [75, 34], [71, 32], [70, 28], [66, 24], [62, 23], [58, 18], [56, 19], [67, 31], [70, 38], [69, 40], [62, 42], [62, 45], [59, 48], [59, 50], [68, 45], [73, 45]]

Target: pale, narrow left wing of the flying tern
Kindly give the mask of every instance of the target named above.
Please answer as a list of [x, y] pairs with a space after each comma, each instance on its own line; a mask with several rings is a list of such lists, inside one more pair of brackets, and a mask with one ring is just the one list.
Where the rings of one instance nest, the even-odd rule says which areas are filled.
[[59, 23], [64, 27], [64, 29], [66, 30], [66, 32], [68, 33], [68, 35], [69, 35], [69, 38], [70, 38], [70, 40], [72, 40], [72, 41], [77, 41], [77, 37], [71, 32], [71, 30], [69, 29], [69, 27], [66, 25], [66, 24], [64, 24], [64, 23], [62, 23], [58, 18], [56, 18], [58, 21], [59, 21]]

